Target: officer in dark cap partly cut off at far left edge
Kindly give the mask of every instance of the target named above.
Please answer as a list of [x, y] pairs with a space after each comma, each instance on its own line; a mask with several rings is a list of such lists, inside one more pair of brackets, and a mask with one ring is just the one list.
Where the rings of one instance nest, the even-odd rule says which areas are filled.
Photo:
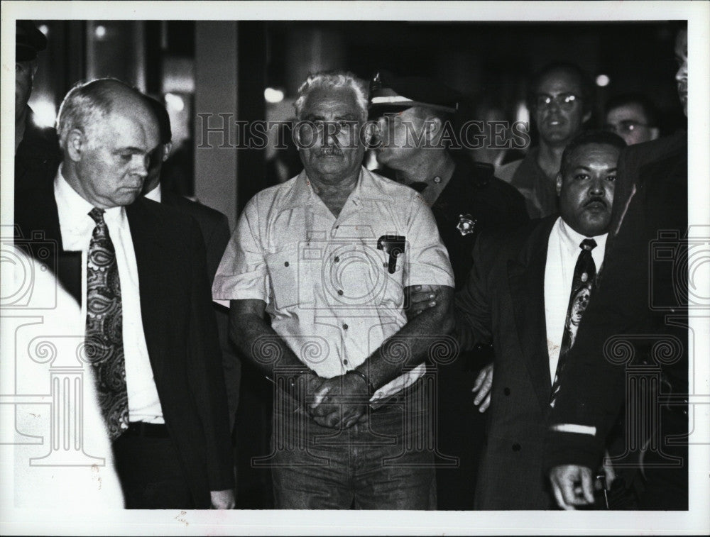
[[31, 189], [53, 180], [62, 155], [57, 132], [37, 126], [27, 104], [47, 38], [32, 21], [17, 21], [15, 30], [15, 189]]

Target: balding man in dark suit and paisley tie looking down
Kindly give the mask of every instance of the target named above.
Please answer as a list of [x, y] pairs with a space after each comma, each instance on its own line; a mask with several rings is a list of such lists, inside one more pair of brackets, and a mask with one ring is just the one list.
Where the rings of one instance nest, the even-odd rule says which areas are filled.
[[[129, 509], [231, 509], [234, 476], [200, 229], [141, 199], [159, 143], [143, 96], [99, 79], [58, 118], [54, 182], [16, 196], [26, 236], [58, 244]], [[53, 263], [48, 265], [52, 266]]]

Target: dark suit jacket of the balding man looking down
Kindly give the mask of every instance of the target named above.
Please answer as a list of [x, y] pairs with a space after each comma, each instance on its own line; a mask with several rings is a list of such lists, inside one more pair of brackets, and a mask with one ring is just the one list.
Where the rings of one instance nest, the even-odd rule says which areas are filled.
[[[209, 491], [233, 487], [234, 475], [204, 243], [192, 218], [153, 201], [138, 199], [126, 207], [126, 215], [136, 251], [143, 331], [165, 425], [197, 507], [209, 508]], [[62, 251], [51, 182], [16, 195], [15, 221], [25, 237], [43, 231], [44, 240], [56, 246], [58, 259], [41, 259], [38, 248], [29, 253], [51, 269], [57, 267], [67, 287], [81, 289], [80, 261]], [[69, 263], [63, 259], [67, 256]]]

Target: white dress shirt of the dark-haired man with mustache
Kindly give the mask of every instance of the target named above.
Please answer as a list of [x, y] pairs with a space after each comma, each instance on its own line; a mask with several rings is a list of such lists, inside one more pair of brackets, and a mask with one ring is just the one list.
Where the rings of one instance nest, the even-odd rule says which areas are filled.
[[601, 270], [606, 249], [607, 233], [596, 237], [585, 237], [570, 228], [562, 218], [557, 218], [547, 240], [547, 262], [545, 263], [545, 326], [547, 327], [547, 354], [550, 356], [550, 382], [555, 381], [559, 347], [564, 335], [564, 321], [567, 317], [569, 294], [572, 292], [574, 266], [581, 253], [579, 245], [585, 238], [593, 238], [596, 247], [591, 250], [596, 272]]

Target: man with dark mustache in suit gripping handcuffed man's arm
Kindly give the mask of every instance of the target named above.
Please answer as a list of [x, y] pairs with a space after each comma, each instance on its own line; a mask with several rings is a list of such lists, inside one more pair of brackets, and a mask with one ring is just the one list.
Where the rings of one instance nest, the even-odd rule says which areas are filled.
[[[488, 434], [476, 509], [551, 509], [543, 474], [547, 417], [601, 268], [626, 144], [613, 133], [574, 138], [557, 174], [559, 216], [513, 233], [481, 235], [474, 266], [455, 298], [462, 348], [493, 343]], [[413, 297], [424, 304], [419, 297]]]

